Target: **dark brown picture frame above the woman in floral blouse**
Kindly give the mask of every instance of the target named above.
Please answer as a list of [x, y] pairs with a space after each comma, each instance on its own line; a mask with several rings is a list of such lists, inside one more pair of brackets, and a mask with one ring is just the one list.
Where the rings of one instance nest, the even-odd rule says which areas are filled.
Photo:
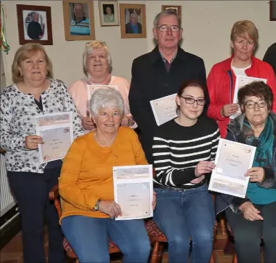
[[53, 45], [51, 7], [17, 4], [19, 45]]

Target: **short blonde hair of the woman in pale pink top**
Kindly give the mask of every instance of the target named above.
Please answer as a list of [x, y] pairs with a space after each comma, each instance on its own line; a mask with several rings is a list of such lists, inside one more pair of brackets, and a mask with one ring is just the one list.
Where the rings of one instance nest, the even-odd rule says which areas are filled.
[[107, 61], [109, 65], [109, 72], [111, 72], [112, 69], [112, 60], [111, 60], [111, 54], [110, 49], [108, 49], [105, 42], [93, 40], [85, 45], [85, 50], [83, 51], [83, 72], [87, 74], [87, 56], [91, 54], [94, 49], [103, 48], [105, 51], [105, 54], [107, 55]]

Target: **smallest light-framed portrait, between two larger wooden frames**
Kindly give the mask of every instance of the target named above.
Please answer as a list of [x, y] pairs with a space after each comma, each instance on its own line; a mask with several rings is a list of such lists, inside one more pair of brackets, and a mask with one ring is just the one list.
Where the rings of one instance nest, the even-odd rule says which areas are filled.
[[101, 26], [119, 26], [118, 1], [98, 1]]

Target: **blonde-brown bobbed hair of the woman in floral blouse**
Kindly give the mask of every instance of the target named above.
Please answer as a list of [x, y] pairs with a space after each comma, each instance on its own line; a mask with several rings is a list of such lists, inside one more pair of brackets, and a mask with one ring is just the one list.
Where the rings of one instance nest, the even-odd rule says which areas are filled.
[[15, 58], [13, 58], [12, 62], [12, 81], [14, 83], [18, 83], [20, 81], [23, 81], [23, 76], [21, 76], [20, 71], [19, 71], [19, 65], [22, 61], [31, 58], [38, 52], [42, 52], [44, 54], [46, 63], [47, 63], [47, 73], [48, 77], [50, 79], [53, 79], [53, 64], [51, 63], [51, 60], [49, 56], [46, 54], [46, 51], [44, 47], [40, 44], [37, 43], [27, 43], [19, 49], [17, 49], [15, 53]]

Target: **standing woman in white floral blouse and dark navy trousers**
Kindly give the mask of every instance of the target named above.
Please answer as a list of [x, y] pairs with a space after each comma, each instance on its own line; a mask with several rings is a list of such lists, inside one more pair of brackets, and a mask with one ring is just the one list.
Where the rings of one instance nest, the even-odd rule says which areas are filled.
[[35, 115], [71, 111], [74, 137], [84, 134], [64, 83], [52, 78], [52, 63], [42, 45], [19, 47], [12, 63], [14, 84], [0, 95], [1, 148], [6, 150], [10, 189], [21, 214], [24, 262], [44, 263], [44, 215], [49, 230], [49, 262], [63, 262], [62, 232], [49, 191], [58, 183], [62, 161], [40, 164]]

